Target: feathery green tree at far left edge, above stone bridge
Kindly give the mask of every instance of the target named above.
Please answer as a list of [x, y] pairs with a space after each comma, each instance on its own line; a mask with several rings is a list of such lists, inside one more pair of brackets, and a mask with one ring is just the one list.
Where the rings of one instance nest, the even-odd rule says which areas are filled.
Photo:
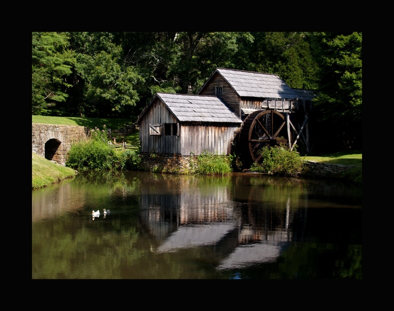
[[64, 77], [71, 73], [74, 57], [67, 39], [57, 32], [32, 32], [32, 114], [45, 115], [68, 97], [71, 85]]

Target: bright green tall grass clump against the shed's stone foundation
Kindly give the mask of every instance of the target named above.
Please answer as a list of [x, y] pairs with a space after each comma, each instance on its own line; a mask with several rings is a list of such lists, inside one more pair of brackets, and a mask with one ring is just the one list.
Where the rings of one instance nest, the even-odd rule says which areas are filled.
[[217, 155], [206, 150], [197, 156], [197, 174], [202, 175], [226, 175], [232, 172], [231, 162], [233, 156]]

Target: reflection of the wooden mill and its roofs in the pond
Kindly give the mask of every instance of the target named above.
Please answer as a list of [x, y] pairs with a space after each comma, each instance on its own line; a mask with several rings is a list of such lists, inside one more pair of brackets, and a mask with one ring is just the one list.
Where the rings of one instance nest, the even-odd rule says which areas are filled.
[[283, 215], [255, 209], [253, 203], [234, 202], [226, 186], [210, 188], [209, 194], [199, 190], [141, 197], [142, 217], [158, 241], [156, 252], [213, 246], [221, 253], [218, 269], [226, 269], [276, 260], [291, 240], [290, 199], [279, 219]]

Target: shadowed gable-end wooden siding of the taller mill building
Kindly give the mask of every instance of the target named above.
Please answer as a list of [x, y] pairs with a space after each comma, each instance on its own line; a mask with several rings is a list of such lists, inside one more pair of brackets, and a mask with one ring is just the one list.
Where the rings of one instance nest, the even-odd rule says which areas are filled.
[[238, 117], [241, 116], [239, 110], [240, 97], [237, 93], [230, 87], [229, 83], [221, 75], [215, 73], [211, 81], [198, 92], [198, 95], [213, 95], [215, 96], [215, 87], [222, 87], [223, 93], [220, 98], [226, 103], [226, 105], [237, 114]]

